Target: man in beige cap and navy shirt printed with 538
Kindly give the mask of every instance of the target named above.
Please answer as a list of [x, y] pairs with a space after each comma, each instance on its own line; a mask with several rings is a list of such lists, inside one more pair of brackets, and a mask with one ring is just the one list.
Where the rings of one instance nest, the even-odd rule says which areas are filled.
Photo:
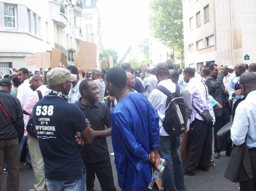
[[85, 191], [86, 168], [77, 143], [92, 144], [93, 134], [79, 107], [66, 102], [71, 81], [77, 76], [66, 68], [53, 68], [46, 78], [51, 91], [35, 104], [32, 115], [47, 188], [49, 191], [64, 188]]

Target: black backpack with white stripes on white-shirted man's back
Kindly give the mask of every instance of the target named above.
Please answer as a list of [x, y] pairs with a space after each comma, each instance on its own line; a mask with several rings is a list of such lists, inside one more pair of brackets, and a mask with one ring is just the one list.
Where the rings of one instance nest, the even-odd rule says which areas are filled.
[[176, 84], [175, 92], [171, 93], [163, 85], [157, 86], [159, 91], [167, 95], [165, 117], [163, 128], [170, 136], [179, 136], [186, 130], [186, 107], [180, 92], [179, 85]]

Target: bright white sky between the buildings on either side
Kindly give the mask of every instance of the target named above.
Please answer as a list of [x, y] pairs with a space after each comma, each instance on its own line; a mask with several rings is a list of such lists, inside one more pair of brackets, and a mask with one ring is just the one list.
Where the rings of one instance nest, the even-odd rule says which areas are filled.
[[132, 55], [143, 59], [137, 47], [138, 42], [147, 38], [149, 30], [149, 0], [98, 0], [102, 13], [102, 42], [105, 48], [112, 48], [119, 59], [132, 46]]

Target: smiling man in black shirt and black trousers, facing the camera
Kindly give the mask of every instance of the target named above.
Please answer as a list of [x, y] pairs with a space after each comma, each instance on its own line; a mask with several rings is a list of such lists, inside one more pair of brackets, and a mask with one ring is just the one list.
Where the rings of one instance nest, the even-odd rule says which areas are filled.
[[[111, 134], [109, 107], [99, 99], [99, 89], [91, 79], [83, 80], [79, 85], [82, 98], [75, 102], [88, 119], [93, 132], [93, 144], [85, 144], [80, 152], [87, 169], [86, 188], [93, 190], [94, 172], [97, 175], [102, 191], [116, 191], [106, 137]], [[105, 125], [107, 128], [105, 128]]]

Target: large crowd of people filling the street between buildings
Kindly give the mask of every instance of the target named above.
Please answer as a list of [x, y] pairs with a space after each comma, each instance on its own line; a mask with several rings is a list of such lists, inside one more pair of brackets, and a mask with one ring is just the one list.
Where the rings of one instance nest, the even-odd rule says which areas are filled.
[[[30, 191], [93, 191], [95, 174], [102, 191], [116, 191], [106, 142], [111, 136], [122, 190], [149, 190], [152, 168], [160, 171], [159, 158], [166, 157], [162, 190], [186, 191], [184, 175], [208, 172], [221, 157], [217, 132], [230, 121], [229, 138], [234, 145], [246, 144], [252, 172], [239, 181], [240, 190], [256, 190], [256, 63], [207, 63], [199, 72], [165, 63], [145, 72], [133, 71], [129, 63], [108, 71], [68, 66], [44, 76], [27, 68], [14, 72], [0, 80], [0, 190], [2, 174], [8, 173], [7, 190], [18, 191], [27, 144], [24, 167], [35, 174]], [[164, 127], [168, 96], [158, 86], [170, 93], [178, 87], [184, 134], [169, 134]], [[232, 148], [230, 141], [227, 156]]]

